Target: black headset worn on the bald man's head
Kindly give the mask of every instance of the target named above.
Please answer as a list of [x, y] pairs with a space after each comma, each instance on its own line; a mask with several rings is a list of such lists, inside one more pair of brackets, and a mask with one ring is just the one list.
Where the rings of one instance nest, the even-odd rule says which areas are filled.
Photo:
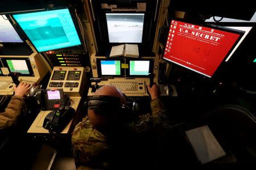
[[137, 115], [139, 112], [139, 105], [123, 94], [126, 98], [126, 104], [121, 104], [119, 97], [114, 96], [92, 96], [88, 101], [85, 101], [85, 108], [92, 109], [94, 111], [105, 111], [105, 112], [125, 112], [131, 115]]

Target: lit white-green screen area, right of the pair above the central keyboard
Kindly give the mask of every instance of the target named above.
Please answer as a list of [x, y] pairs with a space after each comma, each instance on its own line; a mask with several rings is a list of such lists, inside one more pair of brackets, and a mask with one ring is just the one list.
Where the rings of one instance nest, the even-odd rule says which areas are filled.
[[148, 75], [150, 61], [130, 61], [130, 75]]

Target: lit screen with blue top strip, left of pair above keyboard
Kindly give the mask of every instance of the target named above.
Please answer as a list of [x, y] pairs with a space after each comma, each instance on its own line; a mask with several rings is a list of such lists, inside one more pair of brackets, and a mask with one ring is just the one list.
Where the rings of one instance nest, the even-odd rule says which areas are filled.
[[121, 75], [120, 61], [101, 61], [102, 75]]

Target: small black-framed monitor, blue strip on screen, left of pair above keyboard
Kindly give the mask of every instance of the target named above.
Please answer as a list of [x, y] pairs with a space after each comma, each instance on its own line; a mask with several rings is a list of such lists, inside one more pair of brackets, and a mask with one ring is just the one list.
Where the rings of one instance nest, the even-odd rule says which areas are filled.
[[123, 76], [122, 59], [97, 59], [98, 76]]

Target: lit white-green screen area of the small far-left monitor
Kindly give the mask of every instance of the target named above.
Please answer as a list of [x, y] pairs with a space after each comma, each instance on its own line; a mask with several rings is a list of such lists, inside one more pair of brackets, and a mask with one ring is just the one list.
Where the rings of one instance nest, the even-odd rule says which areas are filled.
[[30, 74], [27, 63], [24, 59], [6, 59], [6, 62], [11, 72]]

